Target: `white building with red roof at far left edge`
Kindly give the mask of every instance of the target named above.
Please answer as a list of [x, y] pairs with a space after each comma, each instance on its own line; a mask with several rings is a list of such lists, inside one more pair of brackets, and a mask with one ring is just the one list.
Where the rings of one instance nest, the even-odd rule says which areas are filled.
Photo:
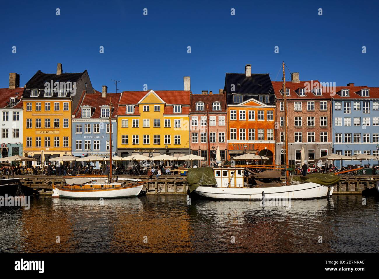
[[1, 158], [22, 155], [22, 94], [20, 76], [9, 74], [9, 88], [0, 88]]

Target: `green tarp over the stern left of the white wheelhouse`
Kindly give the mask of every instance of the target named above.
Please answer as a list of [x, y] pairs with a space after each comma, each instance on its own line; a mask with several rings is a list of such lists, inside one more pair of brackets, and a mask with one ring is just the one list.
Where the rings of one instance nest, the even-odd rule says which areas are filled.
[[211, 186], [217, 184], [213, 169], [211, 167], [188, 169], [187, 182], [190, 192], [199, 186]]

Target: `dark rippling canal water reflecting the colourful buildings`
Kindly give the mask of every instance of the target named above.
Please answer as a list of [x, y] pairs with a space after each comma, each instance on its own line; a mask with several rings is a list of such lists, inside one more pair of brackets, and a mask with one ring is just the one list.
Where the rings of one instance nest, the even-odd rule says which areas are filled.
[[0, 208], [1, 252], [378, 252], [379, 200], [191, 200], [183, 195]]

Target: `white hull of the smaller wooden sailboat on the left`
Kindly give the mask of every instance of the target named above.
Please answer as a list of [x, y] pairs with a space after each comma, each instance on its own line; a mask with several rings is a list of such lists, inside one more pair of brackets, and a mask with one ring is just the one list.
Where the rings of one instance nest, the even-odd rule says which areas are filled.
[[71, 190], [53, 186], [53, 197], [65, 197], [70, 199], [114, 199], [125, 197], [136, 197], [142, 191], [144, 183], [135, 186], [110, 188], [110, 189], [89, 189]]

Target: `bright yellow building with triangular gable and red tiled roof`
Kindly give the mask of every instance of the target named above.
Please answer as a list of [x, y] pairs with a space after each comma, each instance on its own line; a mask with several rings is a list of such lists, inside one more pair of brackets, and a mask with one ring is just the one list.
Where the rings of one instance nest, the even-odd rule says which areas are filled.
[[189, 154], [191, 91], [124, 91], [117, 111], [117, 153]]

